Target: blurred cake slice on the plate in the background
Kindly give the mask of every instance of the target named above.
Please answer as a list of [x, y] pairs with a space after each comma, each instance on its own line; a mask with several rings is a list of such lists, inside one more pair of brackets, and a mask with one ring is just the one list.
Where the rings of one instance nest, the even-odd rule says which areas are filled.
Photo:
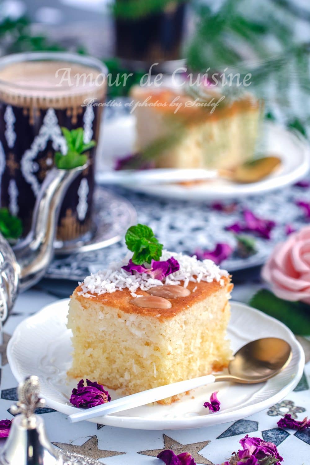
[[131, 93], [135, 150], [155, 167], [230, 169], [253, 158], [262, 111], [250, 93], [233, 101], [214, 89], [204, 101], [163, 87]]

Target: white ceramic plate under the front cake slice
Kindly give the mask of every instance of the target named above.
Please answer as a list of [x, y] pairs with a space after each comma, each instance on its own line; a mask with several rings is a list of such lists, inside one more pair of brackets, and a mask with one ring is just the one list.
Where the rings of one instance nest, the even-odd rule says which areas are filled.
[[[7, 348], [15, 378], [21, 381], [29, 375], [39, 376], [41, 394], [47, 405], [66, 415], [78, 410], [69, 403], [71, 390], [77, 383], [68, 384], [66, 379], [71, 352], [71, 331], [66, 329], [68, 302], [69, 299], [58, 300], [22, 321]], [[145, 405], [90, 421], [144, 430], [197, 428], [247, 417], [283, 399], [302, 376], [303, 349], [293, 333], [278, 320], [238, 302], [231, 303], [231, 310], [228, 336], [232, 349], [236, 351], [248, 341], [261, 337], [285, 339], [292, 347], [293, 357], [283, 372], [266, 383], [211, 384], [192, 391], [183, 400], [171, 405]], [[203, 404], [215, 390], [219, 391], [221, 410], [210, 413]], [[115, 399], [115, 393], [110, 393]]]

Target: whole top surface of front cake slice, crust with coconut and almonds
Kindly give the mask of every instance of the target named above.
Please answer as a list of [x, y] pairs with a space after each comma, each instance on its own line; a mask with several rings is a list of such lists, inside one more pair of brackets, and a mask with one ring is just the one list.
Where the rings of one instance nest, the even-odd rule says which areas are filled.
[[[127, 313], [171, 317], [230, 283], [228, 272], [221, 270], [212, 260], [200, 261], [196, 256], [190, 257], [182, 253], [164, 250], [161, 261], [152, 260], [149, 268], [133, 263], [130, 265], [131, 260], [128, 265], [126, 262], [128, 258], [125, 263], [87, 276], [74, 292], [76, 299], [81, 304], [85, 302], [85, 308], [89, 306], [88, 300], [119, 308]], [[172, 269], [158, 274], [158, 266], [169, 266]], [[168, 293], [171, 289], [176, 292], [176, 286], [178, 296], [173, 299], [168, 294], [166, 297], [165, 288]], [[163, 291], [164, 295], [161, 295]]]

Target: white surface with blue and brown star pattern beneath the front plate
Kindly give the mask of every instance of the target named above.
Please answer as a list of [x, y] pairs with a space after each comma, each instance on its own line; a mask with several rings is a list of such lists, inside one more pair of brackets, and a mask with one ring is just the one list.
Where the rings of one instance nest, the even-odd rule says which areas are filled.
[[[36, 288], [20, 295], [13, 314], [4, 326], [4, 345], [22, 319], [55, 300], [51, 292], [59, 295], [59, 284], [57, 281], [48, 283], [49, 292]], [[61, 283], [61, 286], [61, 291], [69, 295], [75, 283], [67, 286]], [[233, 298], [247, 301], [259, 286], [258, 282], [255, 285], [236, 283]], [[7, 363], [4, 345], [0, 346], [0, 419], [11, 419], [8, 409], [16, 400], [17, 382]], [[185, 449], [196, 451], [197, 464], [219, 464], [231, 452], [238, 450], [238, 441], [247, 433], [274, 442], [284, 457], [284, 465], [309, 465], [310, 429], [295, 432], [277, 427], [277, 421], [286, 412], [296, 415], [298, 420], [310, 416], [309, 385], [310, 363], [306, 365], [297, 388], [283, 402], [270, 405], [269, 410], [233, 423], [191, 430], [137, 431], [88, 422], [71, 424], [66, 415], [52, 409], [44, 408], [39, 413], [44, 417], [47, 434], [53, 443], [69, 451], [99, 458], [106, 465], [160, 465], [163, 462], [156, 455], [158, 450], [165, 448], [164, 444], [177, 453]], [[0, 446], [4, 441], [0, 439]]]

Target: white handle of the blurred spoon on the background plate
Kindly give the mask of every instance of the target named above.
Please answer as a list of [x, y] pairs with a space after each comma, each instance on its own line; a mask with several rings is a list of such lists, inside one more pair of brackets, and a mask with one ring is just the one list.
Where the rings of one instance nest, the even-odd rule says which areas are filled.
[[218, 177], [217, 170], [156, 168], [150, 170], [103, 171], [96, 173], [96, 182], [99, 184], [164, 184], [214, 179], [216, 177]]

